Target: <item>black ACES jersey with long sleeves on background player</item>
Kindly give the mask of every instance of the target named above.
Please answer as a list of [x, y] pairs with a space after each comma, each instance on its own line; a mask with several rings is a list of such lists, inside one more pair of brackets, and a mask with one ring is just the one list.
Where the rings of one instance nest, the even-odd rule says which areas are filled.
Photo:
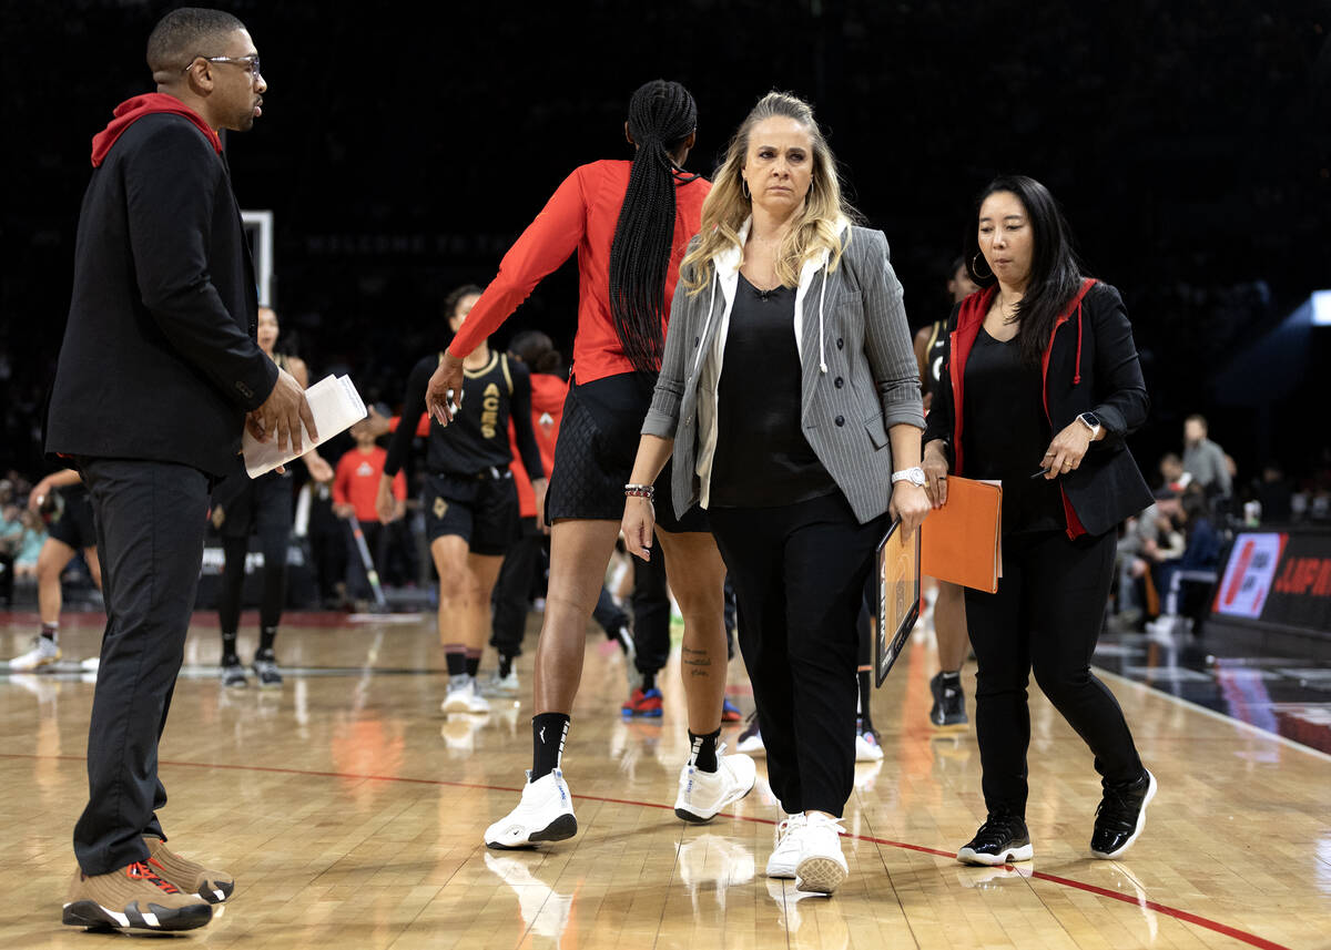
[[[425, 414], [425, 390], [439, 366], [434, 354], [418, 362], [407, 377], [398, 430], [383, 462], [386, 475], [397, 475], [407, 458], [417, 423]], [[522, 464], [532, 479], [544, 478], [540, 450], [531, 427], [531, 375], [507, 355], [492, 353], [479, 370], [462, 373], [462, 406], [449, 427], [430, 419], [426, 468], [431, 475], [478, 475], [487, 468], [504, 470], [512, 462], [508, 448], [508, 418]]]

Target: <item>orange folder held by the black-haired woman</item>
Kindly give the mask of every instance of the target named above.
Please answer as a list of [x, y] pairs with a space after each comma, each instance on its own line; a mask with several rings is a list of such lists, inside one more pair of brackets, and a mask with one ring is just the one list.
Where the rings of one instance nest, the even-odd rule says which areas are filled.
[[948, 476], [948, 503], [920, 527], [920, 573], [994, 593], [1002, 576], [1002, 488]]

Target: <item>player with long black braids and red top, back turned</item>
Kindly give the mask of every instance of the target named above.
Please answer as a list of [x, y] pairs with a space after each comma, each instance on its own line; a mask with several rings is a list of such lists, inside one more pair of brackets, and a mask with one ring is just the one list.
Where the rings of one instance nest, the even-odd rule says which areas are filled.
[[[532, 768], [518, 806], [486, 829], [491, 848], [526, 848], [578, 832], [560, 756], [582, 677], [587, 621], [619, 536], [624, 495], [652, 490], [628, 484], [628, 475], [660, 371], [679, 262], [699, 229], [711, 188], [681, 168], [696, 128], [697, 106], [684, 86], [664, 80], [640, 86], [624, 124], [624, 137], [635, 148], [632, 162], [591, 162], [564, 180], [504, 255], [430, 379], [430, 414], [449, 424], [450, 393], [462, 387], [463, 358], [546, 274], [578, 253], [572, 386], [546, 499], [550, 589], [535, 663]], [[675, 813], [701, 822], [749, 792], [753, 760], [723, 756], [717, 746], [725, 689], [725, 565], [705, 515], [696, 507], [676, 512], [669, 472], [662, 479], [667, 490], [658, 496], [656, 536], [684, 615], [681, 672], [692, 742]]]

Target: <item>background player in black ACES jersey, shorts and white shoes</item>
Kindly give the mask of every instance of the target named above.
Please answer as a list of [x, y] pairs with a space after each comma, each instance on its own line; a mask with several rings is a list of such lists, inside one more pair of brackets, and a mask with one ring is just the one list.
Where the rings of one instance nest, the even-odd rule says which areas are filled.
[[[454, 333], [480, 298], [480, 287], [458, 287], [445, 301]], [[406, 399], [379, 480], [379, 518], [391, 511], [393, 476], [402, 468], [425, 391], [442, 354], [422, 359], [407, 377]], [[518, 490], [508, 463], [512, 419], [522, 464], [536, 495], [536, 524], [546, 503], [546, 470], [531, 428], [531, 375], [520, 361], [478, 346], [463, 361], [462, 399], [453, 424], [430, 420], [426, 443], [425, 518], [430, 555], [439, 572], [439, 643], [449, 664], [445, 712], [486, 712], [490, 703], [476, 685], [480, 653], [490, 636], [490, 593], [504, 552], [518, 539]]]

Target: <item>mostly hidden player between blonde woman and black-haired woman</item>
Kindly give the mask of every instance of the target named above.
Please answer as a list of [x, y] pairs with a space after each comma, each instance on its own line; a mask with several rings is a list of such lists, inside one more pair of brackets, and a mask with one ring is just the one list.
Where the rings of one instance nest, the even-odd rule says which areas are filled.
[[[966, 273], [966, 262], [958, 257], [948, 271], [948, 295], [952, 298], [952, 305], [961, 303], [977, 290], [980, 287]], [[950, 331], [948, 318], [944, 317], [916, 334], [916, 362], [920, 365], [925, 412], [929, 411], [933, 394], [941, 383], [942, 354]], [[938, 641], [938, 673], [929, 680], [929, 691], [933, 693], [929, 721], [938, 728], [961, 726], [969, 721], [966, 697], [961, 691], [961, 664], [966, 661], [970, 640], [966, 636], [966, 603], [960, 584], [938, 581], [938, 593], [933, 601], [933, 629]]]

